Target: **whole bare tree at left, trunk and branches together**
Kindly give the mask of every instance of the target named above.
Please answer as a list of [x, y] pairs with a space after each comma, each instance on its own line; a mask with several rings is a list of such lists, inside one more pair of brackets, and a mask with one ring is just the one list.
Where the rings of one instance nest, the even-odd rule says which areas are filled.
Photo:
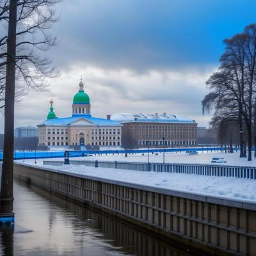
[[58, 0], [0, 0], [0, 25], [8, 25], [6, 35], [0, 38], [0, 96], [4, 96], [0, 220], [13, 216], [15, 79], [40, 91], [44, 90], [45, 76], [56, 76], [55, 69], [50, 66], [51, 60], [38, 52], [56, 44], [56, 37], [46, 33], [56, 21], [52, 9], [56, 3]]

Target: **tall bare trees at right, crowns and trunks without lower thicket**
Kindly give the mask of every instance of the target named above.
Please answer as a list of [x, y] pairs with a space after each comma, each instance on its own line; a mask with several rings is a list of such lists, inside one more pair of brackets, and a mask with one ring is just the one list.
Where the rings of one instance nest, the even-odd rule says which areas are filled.
[[220, 58], [220, 68], [207, 81], [212, 92], [202, 102], [203, 111], [208, 106], [218, 111], [226, 108], [227, 102], [232, 102], [230, 106], [234, 109], [230, 108], [230, 111], [237, 111], [241, 148], [244, 123], [248, 140], [248, 161], [252, 161], [253, 106], [256, 104], [256, 25], [247, 26], [243, 33], [224, 40], [224, 43], [226, 47]]

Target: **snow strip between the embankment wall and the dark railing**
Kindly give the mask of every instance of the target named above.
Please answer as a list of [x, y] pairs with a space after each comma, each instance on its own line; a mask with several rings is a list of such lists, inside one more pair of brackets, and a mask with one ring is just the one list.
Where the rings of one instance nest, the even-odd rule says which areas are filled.
[[[90, 159], [92, 159], [92, 157], [90, 157]], [[63, 166], [44, 166], [42, 164], [43, 160], [44, 159], [40, 159], [37, 161], [37, 164], [33, 163], [35, 160], [17, 162], [23, 162], [31, 166], [42, 166], [51, 170], [82, 173], [90, 177], [99, 177], [101, 179], [117, 180], [119, 182], [152, 186], [154, 188], [170, 189], [171, 191], [182, 191], [194, 195], [214, 196], [256, 204], [255, 180], [233, 177], [208, 177], [183, 173], [137, 172], [132, 170], [95, 168], [84, 165], [76, 166], [72, 164]], [[60, 159], [58, 159], [58, 161], [60, 161]]]

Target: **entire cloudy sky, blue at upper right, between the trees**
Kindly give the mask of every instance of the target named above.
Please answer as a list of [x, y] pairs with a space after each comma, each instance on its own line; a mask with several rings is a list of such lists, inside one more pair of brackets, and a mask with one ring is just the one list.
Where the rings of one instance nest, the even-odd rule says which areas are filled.
[[70, 116], [81, 76], [93, 116], [166, 112], [208, 126], [205, 81], [223, 39], [256, 22], [256, 1], [63, 0], [57, 12], [50, 32], [60, 44], [44, 54], [61, 75], [16, 102], [16, 127], [43, 122], [51, 99], [58, 117]]

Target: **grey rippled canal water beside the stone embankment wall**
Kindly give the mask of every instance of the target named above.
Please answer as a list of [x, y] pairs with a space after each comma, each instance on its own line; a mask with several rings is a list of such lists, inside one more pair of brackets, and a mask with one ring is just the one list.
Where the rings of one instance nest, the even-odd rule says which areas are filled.
[[193, 255], [34, 186], [15, 180], [14, 190], [15, 227], [0, 227], [0, 255]]

